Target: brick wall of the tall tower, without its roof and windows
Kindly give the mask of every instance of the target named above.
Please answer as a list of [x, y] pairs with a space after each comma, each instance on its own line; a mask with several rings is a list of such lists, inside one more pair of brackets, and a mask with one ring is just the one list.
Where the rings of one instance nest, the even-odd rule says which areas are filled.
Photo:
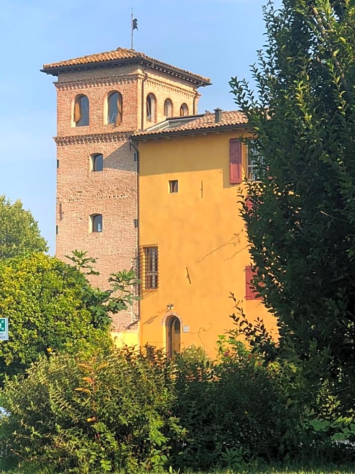
[[[93, 284], [106, 288], [110, 273], [136, 268], [137, 175], [128, 138], [164, 120], [164, 101], [173, 102], [173, 115], [186, 103], [193, 113], [199, 94], [187, 81], [136, 66], [115, 66], [77, 72], [60, 72], [57, 89], [57, 208], [56, 255], [65, 260], [72, 250], [87, 250], [97, 258], [99, 277]], [[142, 100], [142, 87], [144, 95]], [[107, 95], [117, 90], [123, 97], [119, 126], [107, 124]], [[147, 120], [146, 97], [156, 98], [155, 118]], [[76, 127], [75, 97], [85, 94], [90, 102], [90, 123]], [[91, 170], [91, 155], [102, 153], [103, 171]], [[90, 215], [102, 214], [102, 232], [90, 231]], [[113, 329], [120, 331], [136, 320], [138, 309], [115, 316]]]

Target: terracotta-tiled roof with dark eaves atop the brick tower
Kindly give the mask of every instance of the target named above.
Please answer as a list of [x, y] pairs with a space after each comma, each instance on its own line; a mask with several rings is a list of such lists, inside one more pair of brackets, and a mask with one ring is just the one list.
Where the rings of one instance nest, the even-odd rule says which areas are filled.
[[110, 67], [121, 64], [141, 64], [146, 67], [150, 66], [152, 69], [193, 82], [197, 87], [208, 86], [211, 84], [209, 78], [163, 63], [162, 61], [156, 60], [154, 57], [147, 56], [145, 53], [136, 51], [135, 49], [120, 47], [113, 49], [112, 51], [99, 52], [66, 61], [59, 61], [57, 63], [45, 64], [41, 71], [46, 74], [51, 74], [52, 76], [58, 76], [58, 73], [61, 71]]

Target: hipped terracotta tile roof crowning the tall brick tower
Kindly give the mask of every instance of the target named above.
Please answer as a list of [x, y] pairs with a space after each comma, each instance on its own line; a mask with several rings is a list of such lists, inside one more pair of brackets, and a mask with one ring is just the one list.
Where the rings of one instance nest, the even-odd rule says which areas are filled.
[[43, 72], [48, 74], [57, 75], [58, 68], [70, 68], [80, 65], [94, 65], [95, 63], [105, 63], [109, 61], [122, 61], [122, 62], [129, 62], [129, 60], [136, 61], [145, 61], [148, 63], [152, 63], [153, 67], [156, 69], [167, 68], [172, 70], [175, 73], [180, 73], [182, 76], [187, 75], [191, 76], [198, 81], [202, 81], [207, 85], [210, 83], [210, 79], [206, 77], [199, 76], [198, 74], [190, 73], [189, 71], [185, 71], [184, 69], [176, 68], [175, 66], [171, 66], [170, 64], [163, 63], [162, 61], [156, 60], [153, 57], [147, 56], [143, 52], [135, 51], [134, 49], [126, 49], [126, 48], [117, 48], [113, 49], [112, 51], [106, 52], [99, 52], [95, 54], [89, 54], [87, 56], [76, 57], [74, 59], [70, 59], [67, 61], [59, 61], [57, 63], [50, 63], [43, 65]]

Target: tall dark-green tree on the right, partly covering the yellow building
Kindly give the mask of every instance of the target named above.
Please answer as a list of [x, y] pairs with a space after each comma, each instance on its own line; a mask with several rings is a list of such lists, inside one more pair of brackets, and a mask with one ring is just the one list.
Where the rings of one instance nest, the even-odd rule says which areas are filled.
[[256, 91], [230, 82], [259, 155], [260, 181], [247, 185], [242, 212], [254, 283], [279, 318], [280, 347], [293, 347], [310, 383], [327, 379], [347, 407], [355, 387], [354, 4], [283, 0], [275, 10], [269, 2]]

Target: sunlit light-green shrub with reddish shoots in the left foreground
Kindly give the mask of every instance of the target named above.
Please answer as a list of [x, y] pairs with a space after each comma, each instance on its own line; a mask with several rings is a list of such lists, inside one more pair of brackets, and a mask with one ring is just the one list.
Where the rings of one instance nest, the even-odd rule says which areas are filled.
[[129, 349], [43, 359], [8, 381], [1, 438], [50, 472], [159, 467], [184, 434], [170, 385], [164, 364]]

